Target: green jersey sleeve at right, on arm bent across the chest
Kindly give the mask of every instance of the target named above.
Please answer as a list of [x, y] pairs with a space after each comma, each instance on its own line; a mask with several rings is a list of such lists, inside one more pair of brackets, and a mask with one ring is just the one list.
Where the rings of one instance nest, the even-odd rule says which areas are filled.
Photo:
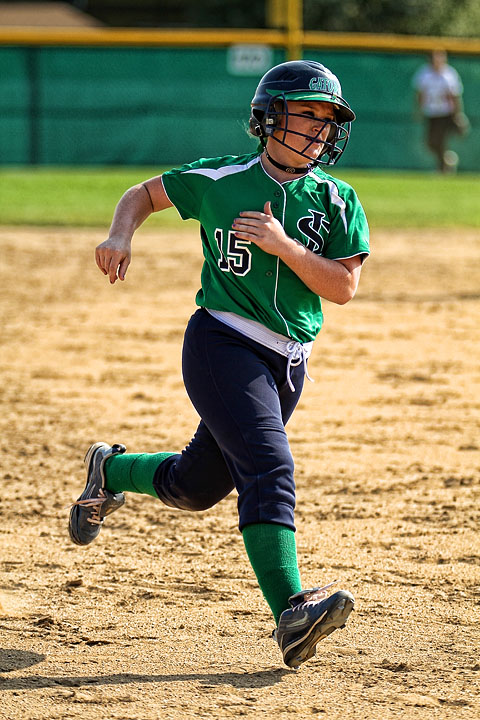
[[370, 254], [365, 211], [354, 189], [346, 183], [329, 183], [330, 233], [323, 251], [330, 260]]

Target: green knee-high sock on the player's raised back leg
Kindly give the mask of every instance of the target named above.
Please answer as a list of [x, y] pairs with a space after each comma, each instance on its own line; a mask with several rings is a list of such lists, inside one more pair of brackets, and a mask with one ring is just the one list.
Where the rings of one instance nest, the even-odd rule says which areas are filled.
[[128, 453], [105, 461], [105, 487], [110, 492], [136, 492], [158, 498], [153, 478], [158, 466], [176, 453]]

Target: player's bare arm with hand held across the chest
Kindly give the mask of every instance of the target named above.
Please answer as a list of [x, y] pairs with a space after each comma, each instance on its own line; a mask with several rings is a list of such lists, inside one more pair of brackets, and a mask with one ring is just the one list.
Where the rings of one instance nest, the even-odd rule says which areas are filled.
[[344, 305], [355, 295], [362, 269], [361, 256], [329, 260], [315, 255], [286, 235], [272, 214], [270, 202], [265, 203], [263, 213], [241, 212], [232, 228], [237, 237], [250, 240], [270, 255], [277, 255], [316, 295], [338, 305]]

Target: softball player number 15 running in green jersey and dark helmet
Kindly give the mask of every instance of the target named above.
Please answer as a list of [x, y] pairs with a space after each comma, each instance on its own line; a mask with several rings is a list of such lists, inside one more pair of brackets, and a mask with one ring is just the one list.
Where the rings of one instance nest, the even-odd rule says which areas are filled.
[[354, 190], [321, 168], [340, 158], [354, 119], [326, 67], [277, 65], [251, 103], [257, 151], [197, 160], [130, 188], [96, 249], [98, 267], [114, 283], [125, 279], [133, 233], [152, 212], [174, 205], [182, 218], [199, 221], [205, 260], [182, 371], [201, 421], [180, 453], [92, 445], [70, 537], [92, 542], [124, 492], [192, 511], [236, 489], [248, 558], [275, 620], [274, 638], [293, 668], [344, 626], [354, 604], [347, 591], [326, 597], [327, 588], [302, 590], [285, 433], [322, 326], [320, 298], [351, 300], [369, 253]]

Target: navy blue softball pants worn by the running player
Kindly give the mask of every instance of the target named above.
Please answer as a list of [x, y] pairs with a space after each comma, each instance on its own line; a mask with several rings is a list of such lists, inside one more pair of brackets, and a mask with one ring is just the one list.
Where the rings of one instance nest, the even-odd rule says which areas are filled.
[[171, 507], [205, 510], [238, 492], [240, 530], [280, 523], [295, 530], [293, 458], [285, 424], [299, 400], [303, 363], [250, 340], [200, 309], [185, 332], [182, 371], [201, 417], [179, 455], [158, 468], [154, 487]]

